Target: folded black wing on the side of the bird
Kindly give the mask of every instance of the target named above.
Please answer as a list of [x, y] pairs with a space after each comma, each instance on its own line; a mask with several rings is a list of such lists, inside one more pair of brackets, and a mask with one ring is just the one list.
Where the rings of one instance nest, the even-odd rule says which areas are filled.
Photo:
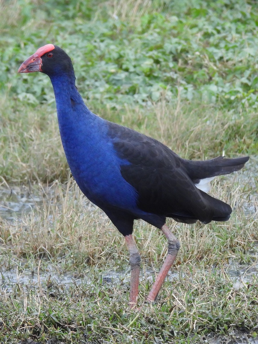
[[[137, 190], [141, 210], [211, 221], [211, 200], [196, 188], [184, 168], [184, 160], [177, 154], [161, 142], [115, 123], [109, 123], [108, 136], [117, 156], [130, 162], [120, 165], [121, 174]], [[223, 204], [226, 215], [231, 213], [230, 206], [218, 202]]]

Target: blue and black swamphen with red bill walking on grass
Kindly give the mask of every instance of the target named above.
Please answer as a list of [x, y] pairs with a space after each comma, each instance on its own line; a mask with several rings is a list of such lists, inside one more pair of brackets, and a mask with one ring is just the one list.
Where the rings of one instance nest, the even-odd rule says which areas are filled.
[[155, 301], [180, 249], [166, 218], [186, 224], [227, 221], [232, 208], [210, 196], [208, 184], [240, 170], [249, 157], [182, 159], [161, 142], [95, 115], [78, 92], [71, 58], [57, 45], [40, 47], [18, 69], [32, 72], [50, 77], [61, 140], [76, 183], [125, 237], [130, 308], [137, 304], [141, 261], [132, 236], [134, 221], [157, 227], [168, 240], [166, 258], [146, 299]]

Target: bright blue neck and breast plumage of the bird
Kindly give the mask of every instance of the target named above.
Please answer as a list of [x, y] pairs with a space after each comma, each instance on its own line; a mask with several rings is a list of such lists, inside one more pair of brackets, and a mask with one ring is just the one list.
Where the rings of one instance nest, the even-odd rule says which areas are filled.
[[50, 79], [65, 155], [79, 188], [100, 208], [111, 205], [139, 217], [147, 215], [137, 207], [137, 191], [121, 175], [120, 165], [129, 162], [117, 156], [107, 135], [109, 122], [86, 107], [67, 75]]

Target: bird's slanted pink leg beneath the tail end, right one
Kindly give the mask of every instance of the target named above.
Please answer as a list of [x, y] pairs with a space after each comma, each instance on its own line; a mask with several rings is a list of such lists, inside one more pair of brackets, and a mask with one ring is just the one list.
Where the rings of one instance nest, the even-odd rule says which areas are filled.
[[168, 239], [169, 242], [169, 248], [168, 248], [168, 255], [161, 267], [161, 270], [159, 272], [159, 275], [157, 279], [155, 280], [155, 283], [153, 284], [151, 291], [149, 292], [149, 295], [147, 297], [147, 301], [154, 301], [157, 297], [160, 288], [162, 286], [162, 283], [164, 282], [166, 275], [168, 275], [169, 269], [171, 268], [171, 265], [173, 264], [176, 255], [178, 254], [180, 243], [179, 240], [176, 239], [174, 234], [172, 234], [168, 228], [168, 226], [164, 225], [161, 227], [162, 232], [164, 233], [165, 237]]

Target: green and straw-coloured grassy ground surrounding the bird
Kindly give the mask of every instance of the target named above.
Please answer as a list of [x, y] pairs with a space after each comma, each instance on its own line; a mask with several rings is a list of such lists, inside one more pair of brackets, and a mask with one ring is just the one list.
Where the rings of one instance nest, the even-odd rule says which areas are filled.
[[[0, 342], [183, 344], [257, 336], [256, 3], [12, 0], [0, 2], [0, 11], [0, 188], [23, 185], [24, 195], [42, 198], [29, 214], [0, 217]], [[101, 117], [183, 158], [251, 155], [244, 172], [213, 185], [212, 194], [234, 208], [228, 222], [168, 221], [181, 242], [172, 269], [178, 275], [153, 305], [144, 304], [149, 271], [159, 271], [167, 245], [157, 229], [136, 222], [140, 313], [127, 306], [123, 237], [88, 207], [69, 176], [49, 78], [17, 74], [46, 43], [71, 56], [78, 89]], [[1, 206], [10, 201], [2, 196]], [[246, 272], [236, 281], [232, 269]], [[24, 280], [28, 272], [40, 282]], [[105, 282], [114, 272], [119, 282]], [[68, 287], [64, 276], [74, 277]]]

